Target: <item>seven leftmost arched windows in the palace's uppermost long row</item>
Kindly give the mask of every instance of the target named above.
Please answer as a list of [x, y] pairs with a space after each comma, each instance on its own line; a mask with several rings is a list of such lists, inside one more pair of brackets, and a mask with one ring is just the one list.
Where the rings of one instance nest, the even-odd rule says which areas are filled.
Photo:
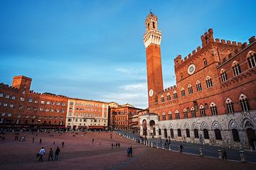
[[[210, 77], [206, 77], [206, 86], [207, 88], [210, 88], [213, 86], [213, 82], [210, 79]], [[196, 81], [196, 90], [202, 91], [202, 86], [200, 81]], [[188, 85], [188, 94], [193, 94], [193, 88], [191, 84]], [[167, 95], [167, 101], [171, 101], [171, 95], [168, 93]], [[181, 96], [186, 96], [186, 91], [184, 88], [181, 88]], [[174, 91], [174, 99], [178, 98], [177, 91]], [[164, 102], [164, 95], [161, 96], [161, 102]]]

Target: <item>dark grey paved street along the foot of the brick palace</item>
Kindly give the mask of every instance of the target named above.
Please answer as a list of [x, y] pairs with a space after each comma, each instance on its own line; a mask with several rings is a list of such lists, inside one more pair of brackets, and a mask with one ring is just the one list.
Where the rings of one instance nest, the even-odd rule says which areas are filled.
[[[171, 152], [182, 152], [184, 154], [192, 154], [199, 157], [223, 159], [224, 153], [221, 147], [215, 147], [210, 145], [188, 144], [186, 142], [176, 142], [172, 140], [171, 140], [171, 144], [169, 143], [168, 145], [167, 143], [168, 140], [158, 140], [158, 139], [143, 140], [138, 135], [130, 134], [128, 132], [115, 131], [115, 133], [121, 137], [126, 137], [129, 140], [133, 140], [135, 142], [141, 143], [146, 147], [154, 147], [156, 149], [166, 149]], [[183, 146], [185, 146], [186, 149], [183, 149]], [[240, 150], [228, 149], [228, 152], [226, 153], [228, 155], [229, 161], [256, 164], [256, 152], [247, 152], [242, 149]]]

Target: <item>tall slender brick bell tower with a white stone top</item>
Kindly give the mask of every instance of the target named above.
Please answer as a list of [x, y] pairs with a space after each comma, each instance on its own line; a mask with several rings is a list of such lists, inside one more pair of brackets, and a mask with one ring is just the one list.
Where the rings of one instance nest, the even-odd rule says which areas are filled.
[[161, 69], [161, 31], [157, 28], [158, 18], [154, 13], [147, 16], [144, 45], [146, 47], [146, 74], [148, 83], [149, 111], [157, 101], [157, 93], [164, 89]]

